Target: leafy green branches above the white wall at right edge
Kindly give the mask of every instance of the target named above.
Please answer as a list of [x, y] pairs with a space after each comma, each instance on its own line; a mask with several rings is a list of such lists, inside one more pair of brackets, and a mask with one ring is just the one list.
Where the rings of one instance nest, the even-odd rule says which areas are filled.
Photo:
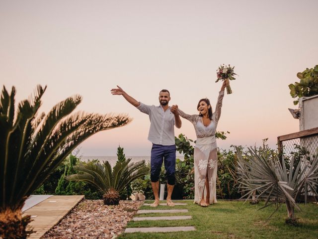
[[[305, 71], [297, 73], [300, 82], [290, 84], [290, 95], [293, 98], [310, 97], [318, 95], [318, 65], [314, 68], [306, 68]], [[294, 101], [294, 105], [298, 104], [298, 100]]]

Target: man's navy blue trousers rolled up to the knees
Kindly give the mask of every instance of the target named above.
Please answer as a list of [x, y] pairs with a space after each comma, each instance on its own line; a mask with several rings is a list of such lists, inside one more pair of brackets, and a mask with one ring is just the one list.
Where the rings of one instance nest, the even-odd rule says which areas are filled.
[[164, 160], [165, 175], [167, 183], [175, 184], [175, 145], [160, 145], [154, 144], [151, 149], [151, 173], [150, 178], [152, 182], [159, 181], [161, 165]]

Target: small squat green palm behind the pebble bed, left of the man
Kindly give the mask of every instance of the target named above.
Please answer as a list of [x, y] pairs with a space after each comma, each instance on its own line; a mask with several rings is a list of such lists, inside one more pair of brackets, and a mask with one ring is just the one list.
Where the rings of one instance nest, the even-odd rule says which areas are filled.
[[88, 162], [74, 167], [78, 174], [67, 177], [71, 181], [84, 181], [94, 185], [104, 192], [103, 200], [105, 205], [118, 205], [119, 193], [135, 179], [145, 176], [148, 168], [145, 167], [145, 160], [137, 163], [129, 163], [130, 158], [117, 161], [113, 169], [108, 161]]

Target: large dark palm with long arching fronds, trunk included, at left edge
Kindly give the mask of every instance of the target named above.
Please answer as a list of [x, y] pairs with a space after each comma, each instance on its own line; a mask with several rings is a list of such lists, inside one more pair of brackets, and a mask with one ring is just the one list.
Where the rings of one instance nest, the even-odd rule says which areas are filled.
[[76, 95], [38, 114], [46, 87], [18, 104], [15, 88], [3, 87], [0, 99], [0, 238], [26, 238], [30, 216], [22, 218], [27, 197], [83, 140], [92, 134], [127, 124], [126, 115], [74, 113]]

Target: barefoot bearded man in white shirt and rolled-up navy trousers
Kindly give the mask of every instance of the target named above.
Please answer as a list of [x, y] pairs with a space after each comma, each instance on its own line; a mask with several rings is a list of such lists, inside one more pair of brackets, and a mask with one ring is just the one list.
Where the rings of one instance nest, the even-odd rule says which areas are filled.
[[160, 106], [148, 106], [136, 101], [129, 96], [122, 88], [117, 86], [111, 89], [113, 95], [122, 95], [130, 104], [135, 106], [142, 113], [149, 115], [150, 129], [148, 140], [153, 143], [151, 149], [151, 185], [155, 196], [155, 202], [151, 205], [159, 205], [159, 174], [164, 160], [165, 175], [167, 177], [167, 205], [174, 206], [171, 201], [171, 194], [175, 184], [175, 141], [174, 141], [174, 124], [177, 128], [181, 127], [181, 119], [177, 112], [171, 113], [169, 107], [170, 93], [168, 90], [159, 92]]

